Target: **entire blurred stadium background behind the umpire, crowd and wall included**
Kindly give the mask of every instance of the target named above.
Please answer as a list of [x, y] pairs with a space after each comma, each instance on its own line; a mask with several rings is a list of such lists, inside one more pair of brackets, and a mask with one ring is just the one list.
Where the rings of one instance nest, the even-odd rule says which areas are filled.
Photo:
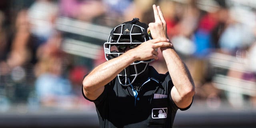
[[[83, 76], [114, 26], [154, 22], [152, 4], [196, 84], [174, 126], [256, 126], [255, 0], [1, 0], [0, 127], [98, 127]], [[151, 65], [167, 71], [161, 54]]]

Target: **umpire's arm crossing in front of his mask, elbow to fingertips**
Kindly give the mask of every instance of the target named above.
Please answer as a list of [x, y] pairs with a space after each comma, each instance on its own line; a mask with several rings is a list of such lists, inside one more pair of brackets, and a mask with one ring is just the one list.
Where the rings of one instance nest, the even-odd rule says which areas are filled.
[[166, 38], [143, 42], [134, 49], [128, 49], [121, 56], [108, 60], [94, 68], [83, 80], [84, 95], [96, 100], [104, 91], [104, 86], [113, 80], [124, 68], [136, 60], [158, 59], [156, 48], [171, 47]]

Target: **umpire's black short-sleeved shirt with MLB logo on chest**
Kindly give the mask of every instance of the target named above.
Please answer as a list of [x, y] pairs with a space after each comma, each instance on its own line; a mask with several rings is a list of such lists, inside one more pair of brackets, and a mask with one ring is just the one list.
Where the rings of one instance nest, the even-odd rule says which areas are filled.
[[115, 78], [96, 100], [90, 101], [96, 106], [101, 128], [172, 128], [179, 109], [170, 95], [173, 86], [168, 72], [158, 74], [149, 66], [149, 78], [139, 91], [132, 85], [122, 86]]

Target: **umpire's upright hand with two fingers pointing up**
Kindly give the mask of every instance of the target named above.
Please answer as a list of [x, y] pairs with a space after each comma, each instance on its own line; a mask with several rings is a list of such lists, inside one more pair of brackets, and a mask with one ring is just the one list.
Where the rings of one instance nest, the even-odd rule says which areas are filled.
[[153, 39], [168, 38], [166, 35], [166, 21], [160, 6], [153, 5], [155, 22], [148, 24], [148, 32], [151, 33]]

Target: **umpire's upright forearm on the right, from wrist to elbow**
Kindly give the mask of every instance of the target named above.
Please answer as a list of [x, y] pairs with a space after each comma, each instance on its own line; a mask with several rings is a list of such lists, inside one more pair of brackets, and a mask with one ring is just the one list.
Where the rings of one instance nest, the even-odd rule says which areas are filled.
[[186, 96], [190, 94], [194, 95], [194, 82], [192, 76], [174, 48], [162, 48], [162, 54], [166, 61], [172, 82], [180, 95], [180, 98], [186, 98]]

